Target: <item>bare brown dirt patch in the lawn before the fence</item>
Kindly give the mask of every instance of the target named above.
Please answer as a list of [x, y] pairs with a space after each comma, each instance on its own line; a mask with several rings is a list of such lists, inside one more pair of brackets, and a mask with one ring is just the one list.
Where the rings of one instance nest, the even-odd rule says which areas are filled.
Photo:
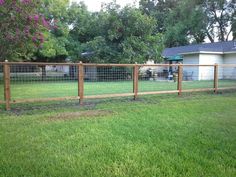
[[112, 111], [104, 111], [104, 110], [87, 110], [80, 112], [68, 112], [68, 113], [59, 113], [55, 116], [51, 116], [48, 118], [50, 121], [56, 120], [72, 120], [72, 119], [80, 119], [80, 118], [95, 118], [113, 114]]

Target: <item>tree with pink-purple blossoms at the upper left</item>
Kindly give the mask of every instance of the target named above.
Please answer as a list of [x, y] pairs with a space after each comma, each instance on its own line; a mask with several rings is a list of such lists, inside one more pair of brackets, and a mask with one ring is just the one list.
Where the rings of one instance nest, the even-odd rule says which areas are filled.
[[44, 42], [50, 23], [41, 15], [39, 0], [0, 0], [0, 61], [27, 60]]

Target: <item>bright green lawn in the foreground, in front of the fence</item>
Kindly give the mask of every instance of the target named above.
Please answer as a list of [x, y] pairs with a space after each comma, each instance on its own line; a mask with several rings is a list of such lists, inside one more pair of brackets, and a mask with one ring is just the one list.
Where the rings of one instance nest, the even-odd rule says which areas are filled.
[[0, 176], [235, 176], [235, 108], [236, 93], [13, 105]]

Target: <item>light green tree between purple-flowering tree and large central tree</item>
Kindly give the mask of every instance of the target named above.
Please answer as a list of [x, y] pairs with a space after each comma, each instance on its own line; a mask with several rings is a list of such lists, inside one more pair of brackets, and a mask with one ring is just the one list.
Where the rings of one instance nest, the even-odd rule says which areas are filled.
[[68, 56], [69, 17], [68, 0], [44, 0], [40, 12], [54, 25], [50, 31], [44, 31], [45, 41], [35, 53], [34, 61], [62, 62]]

